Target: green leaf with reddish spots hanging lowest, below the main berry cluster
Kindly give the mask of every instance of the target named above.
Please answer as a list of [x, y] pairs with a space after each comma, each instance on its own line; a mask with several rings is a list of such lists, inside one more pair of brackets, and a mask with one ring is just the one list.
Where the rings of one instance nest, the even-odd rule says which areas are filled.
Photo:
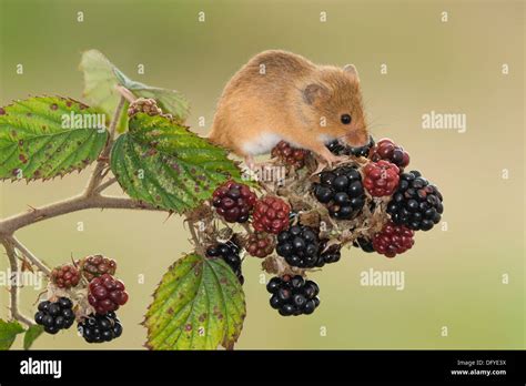
[[151, 349], [232, 348], [246, 314], [243, 288], [222, 258], [190, 254], [173, 264], [148, 309]]

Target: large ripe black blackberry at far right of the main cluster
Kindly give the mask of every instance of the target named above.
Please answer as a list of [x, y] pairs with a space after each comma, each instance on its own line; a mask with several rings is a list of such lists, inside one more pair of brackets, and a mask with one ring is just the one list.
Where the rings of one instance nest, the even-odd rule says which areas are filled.
[[429, 231], [442, 219], [444, 205], [438, 189], [417, 171], [402, 173], [387, 213], [395, 224], [413, 231]]

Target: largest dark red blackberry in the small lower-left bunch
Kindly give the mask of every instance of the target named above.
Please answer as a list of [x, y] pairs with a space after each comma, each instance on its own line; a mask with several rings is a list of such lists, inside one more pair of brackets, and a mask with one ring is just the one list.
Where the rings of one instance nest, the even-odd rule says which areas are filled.
[[100, 315], [119, 309], [119, 306], [128, 302], [124, 283], [109, 274], [93, 278], [89, 291], [88, 302]]

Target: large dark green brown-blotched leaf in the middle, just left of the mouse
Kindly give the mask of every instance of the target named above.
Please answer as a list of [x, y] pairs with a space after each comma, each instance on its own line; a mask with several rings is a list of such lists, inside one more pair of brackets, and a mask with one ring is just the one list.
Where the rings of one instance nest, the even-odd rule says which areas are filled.
[[229, 177], [241, 181], [225, 150], [164, 116], [139, 113], [129, 129], [113, 144], [111, 170], [133, 199], [181, 213]]

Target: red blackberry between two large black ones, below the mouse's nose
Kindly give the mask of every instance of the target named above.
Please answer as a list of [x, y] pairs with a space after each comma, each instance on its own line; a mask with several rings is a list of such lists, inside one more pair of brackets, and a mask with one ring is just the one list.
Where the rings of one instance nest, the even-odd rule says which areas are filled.
[[364, 186], [374, 197], [392, 195], [399, 181], [399, 169], [388, 161], [370, 162], [364, 167]]

